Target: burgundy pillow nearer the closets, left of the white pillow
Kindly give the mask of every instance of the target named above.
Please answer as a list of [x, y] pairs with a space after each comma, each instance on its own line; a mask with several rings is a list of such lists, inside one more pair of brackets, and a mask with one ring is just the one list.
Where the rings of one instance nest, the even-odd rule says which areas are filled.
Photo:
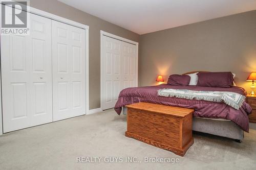
[[188, 75], [170, 75], [167, 84], [174, 86], [187, 86], [189, 82], [190, 76]]

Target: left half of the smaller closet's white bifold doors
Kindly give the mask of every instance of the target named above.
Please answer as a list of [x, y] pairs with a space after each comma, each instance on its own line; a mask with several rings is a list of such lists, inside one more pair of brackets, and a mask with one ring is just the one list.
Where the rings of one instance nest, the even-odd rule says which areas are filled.
[[113, 108], [122, 89], [122, 41], [103, 36], [102, 109]]

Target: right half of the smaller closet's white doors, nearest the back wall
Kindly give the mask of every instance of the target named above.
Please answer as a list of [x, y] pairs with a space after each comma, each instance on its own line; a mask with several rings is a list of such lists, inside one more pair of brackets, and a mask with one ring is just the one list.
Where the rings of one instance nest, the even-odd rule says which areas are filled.
[[137, 47], [123, 42], [122, 48], [123, 89], [137, 86]]

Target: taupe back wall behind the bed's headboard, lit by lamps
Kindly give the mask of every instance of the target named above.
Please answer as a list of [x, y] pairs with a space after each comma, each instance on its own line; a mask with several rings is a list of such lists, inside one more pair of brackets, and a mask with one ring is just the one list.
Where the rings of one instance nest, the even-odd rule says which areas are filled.
[[140, 36], [139, 85], [156, 84], [158, 74], [192, 70], [232, 71], [249, 91], [256, 71], [256, 11], [211, 19]]

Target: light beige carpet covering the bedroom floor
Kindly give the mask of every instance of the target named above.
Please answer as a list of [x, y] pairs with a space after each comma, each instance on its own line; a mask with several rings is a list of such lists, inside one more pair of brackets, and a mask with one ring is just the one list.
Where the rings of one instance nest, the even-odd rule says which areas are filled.
[[[108, 110], [0, 136], [0, 169], [255, 169], [256, 126], [242, 143], [194, 134], [184, 157], [124, 136], [126, 116]], [[102, 157], [77, 163], [77, 156]], [[106, 163], [109, 157], [121, 163]], [[126, 157], [137, 157], [126, 163]], [[179, 158], [179, 163], [145, 163], [144, 157]], [[141, 163], [140, 163], [141, 162]]]

